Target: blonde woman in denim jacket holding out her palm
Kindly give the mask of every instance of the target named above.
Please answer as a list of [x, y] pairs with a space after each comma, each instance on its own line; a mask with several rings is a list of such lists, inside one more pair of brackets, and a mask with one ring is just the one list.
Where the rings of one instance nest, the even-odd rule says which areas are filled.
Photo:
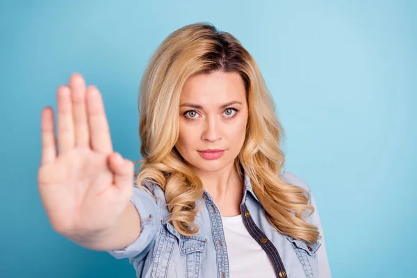
[[232, 35], [191, 24], [158, 47], [137, 176], [97, 88], [73, 74], [57, 95], [59, 154], [47, 107], [38, 183], [58, 233], [129, 258], [137, 277], [330, 277], [309, 186], [284, 171], [273, 99]]

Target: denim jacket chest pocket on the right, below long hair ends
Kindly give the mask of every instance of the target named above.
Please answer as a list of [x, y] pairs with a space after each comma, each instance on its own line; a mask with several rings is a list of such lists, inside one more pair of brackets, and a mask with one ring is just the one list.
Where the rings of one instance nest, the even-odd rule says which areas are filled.
[[[286, 236], [286, 238], [292, 243], [293, 248], [295, 250], [295, 254], [297, 254], [297, 257], [300, 260], [306, 278], [318, 277], [318, 275], [314, 275], [313, 273], [316, 273], [318, 263], [316, 252], [321, 246], [321, 243], [305, 243], [304, 241], [297, 240], [295, 238], [292, 238], [291, 236]], [[313, 271], [313, 269], [315, 271]]]

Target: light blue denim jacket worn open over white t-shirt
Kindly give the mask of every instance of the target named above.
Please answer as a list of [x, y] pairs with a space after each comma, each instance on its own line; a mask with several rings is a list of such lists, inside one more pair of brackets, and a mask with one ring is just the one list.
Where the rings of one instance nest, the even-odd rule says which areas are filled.
[[[246, 174], [241, 210], [245, 209], [248, 213], [242, 211], [243, 215], [250, 215], [255, 228], [259, 228], [263, 238], [268, 239], [265, 241], [269, 241], [277, 250], [281, 259], [278, 264], [284, 264], [285, 268], [284, 274], [276, 271], [277, 277], [331, 277], [320, 218], [308, 184], [290, 172], [284, 172], [281, 178], [309, 191], [310, 202], [316, 210], [307, 221], [318, 226], [322, 236], [318, 243], [306, 244], [277, 232], [266, 220], [263, 207]], [[152, 190], [156, 199], [147, 189], [136, 186], [131, 198], [141, 218], [140, 236], [122, 250], [107, 252], [117, 259], [128, 258], [136, 269], [136, 277], [228, 278], [229, 264], [222, 219], [213, 198], [204, 191], [205, 205], [196, 218], [199, 232], [195, 236], [183, 236], [170, 222], [165, 221], [169, 213], [161, 188], [156, 183], [149, 182], [147, 187]]]

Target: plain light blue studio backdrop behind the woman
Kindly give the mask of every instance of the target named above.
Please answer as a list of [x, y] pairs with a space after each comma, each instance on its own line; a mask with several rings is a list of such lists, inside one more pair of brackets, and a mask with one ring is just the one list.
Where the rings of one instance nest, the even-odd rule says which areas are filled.
[[416, 1], [1, 1], [0, 277], [134, 277], [51, 229], [40, 111], [80, 72], [113, 145], [140, 159], [138, 85], [172, 31], [211, 22], [259, 63], [286, 170], [316, 197], [334, 277], [417, 277]]

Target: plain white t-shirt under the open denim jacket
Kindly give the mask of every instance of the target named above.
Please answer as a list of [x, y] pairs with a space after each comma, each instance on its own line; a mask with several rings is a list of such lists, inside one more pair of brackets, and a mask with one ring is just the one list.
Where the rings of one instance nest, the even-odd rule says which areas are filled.
[[222, 217], [222, 222], [230, 278], [274, 278], [275, 271], [268, 255], [247, 231], [242, 215]]

